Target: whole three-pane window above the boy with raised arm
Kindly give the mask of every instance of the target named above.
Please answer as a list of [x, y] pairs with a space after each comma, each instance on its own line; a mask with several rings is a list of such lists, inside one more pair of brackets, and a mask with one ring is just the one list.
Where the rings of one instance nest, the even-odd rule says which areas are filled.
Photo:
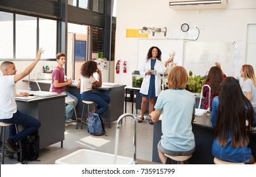
[[34, 59], [38, 47], [42, 59], [55, 59], [57, 35], [56, 20], [0, 11], [0, 60]]

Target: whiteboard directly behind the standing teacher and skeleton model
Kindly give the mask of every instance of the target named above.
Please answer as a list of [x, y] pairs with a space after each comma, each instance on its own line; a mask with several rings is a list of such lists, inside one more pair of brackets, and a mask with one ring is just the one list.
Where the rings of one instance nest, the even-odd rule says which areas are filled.
[[165, 63], [169, 59], [169, 52], [176, 51], [174, 61], [183, 66], [184, 40], [170, 39], [139, 39], [138, 41], [138, 59], [137, 70], [140, 70], [148, 54], [150, 47], [156, 46], [162, 52], [162, 61]]

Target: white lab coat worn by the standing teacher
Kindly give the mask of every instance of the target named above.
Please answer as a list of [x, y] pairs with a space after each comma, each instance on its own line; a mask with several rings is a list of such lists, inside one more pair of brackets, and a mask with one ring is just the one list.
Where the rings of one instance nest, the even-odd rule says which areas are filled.
[[[145, 75], [145, 73], [151, 70], [151, 59], [148, 59], [148, 61], [145, 59], [145, 62], [141, 69], [139, 70], [139, 74], [141, 76], [144, 76], [143, 82], [141, 84], [141, 90], [139, 91], [141, 94], [148, 95], [148, 90], [150, 88], [150, 75]], [[158, 97], [158, 95], [161, 92], [161, 76], [160, 74], [165, 73], [165, 66], [162, 61], [158, 60], [155, 63], [154, 70], [157, 71], [157, 75], [155, 75], [155, 95]]]

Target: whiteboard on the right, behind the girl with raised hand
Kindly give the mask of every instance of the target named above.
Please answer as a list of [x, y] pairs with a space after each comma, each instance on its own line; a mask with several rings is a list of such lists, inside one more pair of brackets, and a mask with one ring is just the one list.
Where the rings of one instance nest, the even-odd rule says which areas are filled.
[[184, 50], [184, 68], [193, 75], [204, 76], [215, 62], [227, 76], [233, 76], [234, 42], [195, 42], [186, 41]]

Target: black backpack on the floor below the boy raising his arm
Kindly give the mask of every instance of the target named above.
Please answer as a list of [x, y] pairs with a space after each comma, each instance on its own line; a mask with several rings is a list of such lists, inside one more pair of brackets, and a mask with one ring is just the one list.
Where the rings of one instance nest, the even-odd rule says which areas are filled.
[[18, 161], [22, 162], [22, 164], [27, 164], [29, 161], [39, 161], [37, 160], [39, 157], [39, 139], [37, 130], [21, 141], [22, 159], [20, 159], [20, 152], [18, 152]]

